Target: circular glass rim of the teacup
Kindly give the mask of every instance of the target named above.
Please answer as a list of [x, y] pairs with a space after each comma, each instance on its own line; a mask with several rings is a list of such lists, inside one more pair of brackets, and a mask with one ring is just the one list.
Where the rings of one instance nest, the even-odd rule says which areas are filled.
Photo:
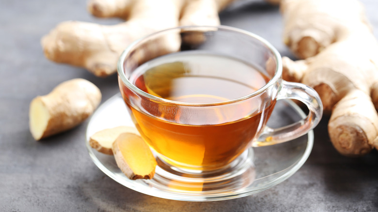
[[[268, 47], [268, 49], [273, 53], [273, 55], [275, 57], [277, 65], [276, 65], [276, 70], [275, 70], [273, 77], [268, 81], [267, 84], [265, 84], [263, 87], [261, 87], [257, 91], [254, 91], [254, 92], [252, 92], [248, 95], [245, 95], [245, 96], [242, 96], [242, 97], [239, 97], [239, 98], [236, 98], [236, 99], [231, 99], [231, 100], [227, 100], [227, 101], [223, 101], [223, 102], [215, 102], [215, 103], [186, 103], [186, 102], [178, 102], [178, 101], [164, 99], [164, 98], [157, 97], [157, 96], [154, 96], [152, 94], [149, 94], [147, 92], [142, 91], [141, 89], [136, 87], [134, 84], [132, 84], [127, 79], [127, 77], [125, 75], [125, 71], [124, 71], [124, 61], [125, 61], [126, 57], [129, 55], [129, 53], [131, 52], [131, 50], [136, 45], [140, 44], [142, 41], [144, 41], [145, 39], [148, 39], [149, 37], [153, 37], [153, 36], [156, 36], [157, 34], [165, 33], [167, 31], [198, 29], [198, 28], [202, 28], [202, 29], [216, 28], [217, 30], [238, 32], [238, 33], [242, 33], [242, 34], [251, 36], [252, 38], [260, 41], [261, 43], [263, 43], [264, 45], [266, 45]], [[167, 103], [167, 104], [171, 104], [171, 105], [180, 105], [180, 106], [219, 106], [219, 105], [228, 105], [228, 104], [232, 104], [232, 103], [235, 103], [235, 102], [240, 102], [240, 101], [252, 98], [253, 96], [256, 96], [256, 95], [268, 90], [268, 88], [270, 86], [272, 86], [274, 83], [276, 83], [279, 80], [279, 78], [282, 76], [282, 58], [281, 58], [281, 55], [278, 52], [278, 50], [273, 45], [271, 45], [267, 40], [265, 40], [264, 38], [250, 32], [250, 31], [247, 31], [247, 30], [241, 30], [241, 29], [238, 29], [238, 28], [235, 28], [235, 27], [222, 26], [222, 25], [219, 25], [219, 26], [180, 26], [180, 27], [174, 27], [174, 28], [169, 28], [169, 29], [160, 30], [160, 31], [157, 31], [157, 32], [154, 32], [154, 33], [150, 33], [148, 35], [145, 35], [145, 36], [133, 41], [130, 45], [128, 45], [126, 47], [126, 49], [122, 52], [121, 56], [119, 57], [118, 62], [117, 62], [117, 73], [118, 73], [118, 76], [121, 78], [122, 82], [130, 90], [132, 90], [133, 92], [136, 92], [139, 95], [142, 95], [143, 97], [146, 97], [150, 100], [154, 100], [154, 101], [158, 101], [158, 102], [162, 102], [162, 103]]]

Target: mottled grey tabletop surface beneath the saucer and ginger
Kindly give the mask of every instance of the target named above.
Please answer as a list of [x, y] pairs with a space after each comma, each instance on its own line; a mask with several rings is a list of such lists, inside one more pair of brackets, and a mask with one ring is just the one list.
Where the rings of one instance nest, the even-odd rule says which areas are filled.
[[[362, 2], [378, 31], [378, 1]], [[103, 101], [118, 92], [116, 76], [97, 78], [43, 56], [40, 38], [61, 21], [119, 22], [94, 18], [85, 8], [84, 0], [0, 0], [0, 211], [378, 211], [377, 151], [362, 158], [339, 155], [327, 134], [327, 117], [315, 129], [309, 159], [291, 178], [261, 193], [220, 202], [150, 197], [114, 182], [87, 153], [87, 121], [34, 141], [28, 110], [36, 95], [76, 77], [96, 84]], [[259, 34], [291, 56], [282, 44], [278, 7], [241, 0], [221, 13], [221, 22]]]

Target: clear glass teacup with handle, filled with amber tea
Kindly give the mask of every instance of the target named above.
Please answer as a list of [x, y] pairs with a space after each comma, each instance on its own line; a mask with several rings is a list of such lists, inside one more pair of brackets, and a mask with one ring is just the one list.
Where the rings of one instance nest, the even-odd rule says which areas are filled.
[[[118, 81], [143, 139], [161, 166], [178, 175], [224, 174], [251, 146], [293, 140], [322, 116], [312, 88], [282, 79], [281, 56], [272, 45], [231, 27], [179, 27], [145, 36], [122, 53]], [[307, 118], [268, 127], [280, 99], [303, 102]]]

